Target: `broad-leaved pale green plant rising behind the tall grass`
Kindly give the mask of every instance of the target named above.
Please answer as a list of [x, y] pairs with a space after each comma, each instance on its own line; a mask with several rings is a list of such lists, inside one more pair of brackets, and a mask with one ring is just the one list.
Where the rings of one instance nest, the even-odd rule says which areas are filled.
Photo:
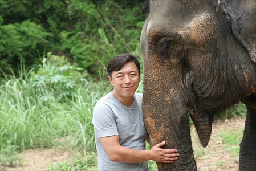
[[36, 87], [40, 100], [63, 100], [76, 96], [76, 89], [85, 86], [86, 79], [78, 72], [82, 68], [71, 66], [64, 56], [48, 53], [38, 71], [32, 71], [32, 86]]

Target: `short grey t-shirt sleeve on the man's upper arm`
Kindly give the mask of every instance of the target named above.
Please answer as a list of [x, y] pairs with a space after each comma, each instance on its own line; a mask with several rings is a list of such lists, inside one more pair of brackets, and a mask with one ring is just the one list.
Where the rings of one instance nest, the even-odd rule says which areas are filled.
[[111, 108], [106, 104], [97, 104], [92, 114], [95, 136], [97, 138], [118, 135], [116, 118]]

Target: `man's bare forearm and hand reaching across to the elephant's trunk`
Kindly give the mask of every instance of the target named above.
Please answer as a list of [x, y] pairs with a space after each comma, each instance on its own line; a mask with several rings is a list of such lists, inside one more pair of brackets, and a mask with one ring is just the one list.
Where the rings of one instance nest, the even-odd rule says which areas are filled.
[[175, 149], [160, 148], [165, 144], [165, 141], [156, 144], [151, 150], [134, 150], [121, 146], [118, 135], [102, 137], [100, 142], [111, 161], [135, 163], [153, 160], [156, 162], [172, 163], [179, 156]]

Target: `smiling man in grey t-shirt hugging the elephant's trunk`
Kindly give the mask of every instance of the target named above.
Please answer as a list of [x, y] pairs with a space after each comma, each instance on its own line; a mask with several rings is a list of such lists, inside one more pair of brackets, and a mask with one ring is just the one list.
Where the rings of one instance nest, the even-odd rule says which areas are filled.
[[148, 160], [177, 160], [177, 150], [160, 148], [165, 141], [145, 150], [149, 136], [144, 127], [142, 95], [135, 93], [140, 83], [137, 58], [118, 55], [109, 62], [107, 71], [113, 91], [97, 102], [92, 119], [99, 170], [149, 170]]

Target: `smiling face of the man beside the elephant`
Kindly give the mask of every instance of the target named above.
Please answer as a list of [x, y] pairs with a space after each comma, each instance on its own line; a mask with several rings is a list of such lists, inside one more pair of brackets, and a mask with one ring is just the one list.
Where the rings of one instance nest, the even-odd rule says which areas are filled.
[[[117, 100], [133, 97], [140, 83], [140, 73], [134, 62], [127, 62], [119, 71], [112, 72], [109, 82], [114, 87], [113, 95]], [[119, 99], [121, 98], [121, 99]]]

